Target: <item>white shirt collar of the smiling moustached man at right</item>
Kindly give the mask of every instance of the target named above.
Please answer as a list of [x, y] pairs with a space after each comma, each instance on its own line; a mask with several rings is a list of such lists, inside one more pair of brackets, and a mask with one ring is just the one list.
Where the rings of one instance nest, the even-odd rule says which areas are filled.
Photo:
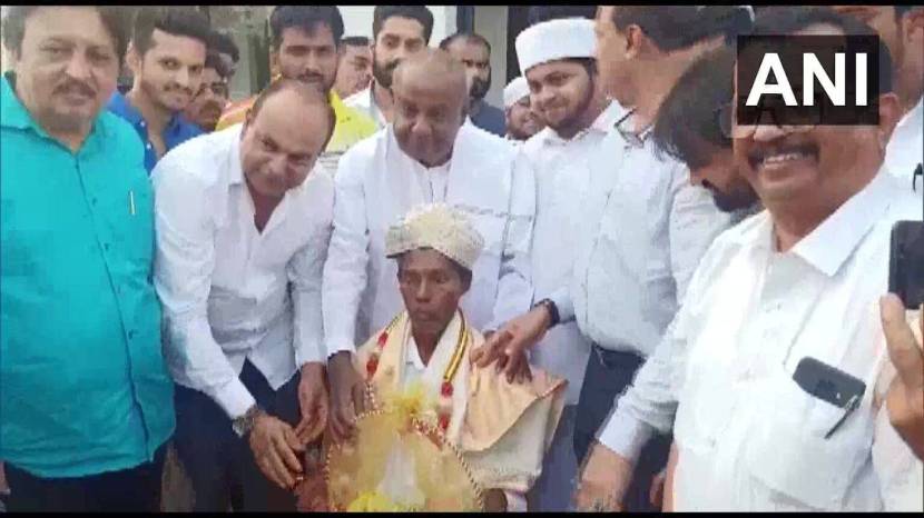
[[[889, 180], [889, 175], [881, 168], [866, 187], [799, 240], [793, 247], [792, 253], [828, 277], [837, 275], [888, 209], [889, 200], [895, 196]], [[761, 238], [758, 248], [773, 249], [775, 239], [770, 217], [767, 218], [764, 231], [759, 233]]]

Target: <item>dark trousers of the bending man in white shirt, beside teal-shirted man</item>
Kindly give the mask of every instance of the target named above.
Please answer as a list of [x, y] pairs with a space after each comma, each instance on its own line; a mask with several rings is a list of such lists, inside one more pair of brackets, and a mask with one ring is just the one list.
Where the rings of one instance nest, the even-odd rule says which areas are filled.
[[[244, 362], [240, 381], [267, 414], [293, 427], [298, 424], [296, 372], [274, 391], [266, 378]], [[194, 511], [294, 511], [295, 496], [267, 479], [254, 460], [246, 439], [237, 437], [232, 420], [212, 398], [186, 387], [176, 388], [177, 458], [193, 486]]]

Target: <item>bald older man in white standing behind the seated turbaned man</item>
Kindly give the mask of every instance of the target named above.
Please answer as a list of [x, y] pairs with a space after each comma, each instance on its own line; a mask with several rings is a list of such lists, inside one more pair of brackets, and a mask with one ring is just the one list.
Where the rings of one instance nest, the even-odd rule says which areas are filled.
[[446, 202], [466, 212], [484, 237], [472, 288], [462, 300], [475, 329], [498, 329], [532, 299], [533, 179], [514, 168], [515, 150], [505, 140], [463, 123], [462, 66], [445, 51], [425, 50], [395, 70], [393, 91], [394, 123], [344, 155], [335, 180], [324, 333], [331, 425], [340, 438], [362, 409], [362, 380], [351, 362], [354, 343], [401, 308], [396, 266], [385, 260], [383, 247], [389, 226], [411, 208]]

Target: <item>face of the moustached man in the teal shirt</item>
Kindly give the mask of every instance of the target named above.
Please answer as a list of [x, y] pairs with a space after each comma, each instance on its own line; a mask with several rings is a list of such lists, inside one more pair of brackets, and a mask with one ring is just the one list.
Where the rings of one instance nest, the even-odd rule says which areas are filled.
[[91, 7], [37, 9], [12, 58], [17, 96], [47, 130], [89, 131], [116, 90], [116, 42]]

